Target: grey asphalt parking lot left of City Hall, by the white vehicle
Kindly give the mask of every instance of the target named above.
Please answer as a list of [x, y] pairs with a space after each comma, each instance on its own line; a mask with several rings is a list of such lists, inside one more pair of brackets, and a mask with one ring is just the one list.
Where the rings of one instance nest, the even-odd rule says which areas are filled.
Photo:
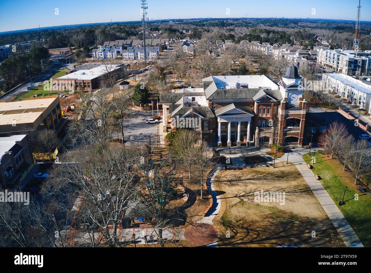
[[[157, 111], [153, 111], [154, 115], [157, 115]], [[158, 139], [158, 127], [161, 125], [161, 121], [158, 124], [147, 124], [145, 120], [152, 116], [152, 111], [135, 111], [134, 116], [124, 121], [124, 140], [125, 145], [133, 144], [151, 144], [157, 143]], [[162, 126], [162, 125], [161, 125]], [[114, 134], [116, 137], [116, 134]], [[121, 133], [118, 133], [118, 137], [121, 138]]]

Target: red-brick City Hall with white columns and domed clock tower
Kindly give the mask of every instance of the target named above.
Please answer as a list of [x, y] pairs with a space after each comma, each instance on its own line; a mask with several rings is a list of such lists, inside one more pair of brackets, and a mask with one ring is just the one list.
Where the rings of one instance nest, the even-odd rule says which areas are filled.
[[289, 66], [280, 81], [265, 75], [210, 76], [202, 81], [203, 88], [161, 94], [164, 127], [197, 118], [203, 140], [211, 145], [269, 146], [275, 135], [285, 146], [302, 146], [306, 101], [296, 66]]

